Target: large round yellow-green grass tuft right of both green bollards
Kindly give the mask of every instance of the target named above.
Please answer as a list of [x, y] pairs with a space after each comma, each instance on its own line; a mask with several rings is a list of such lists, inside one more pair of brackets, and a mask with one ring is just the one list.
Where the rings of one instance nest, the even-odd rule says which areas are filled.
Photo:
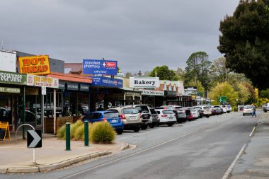
[[109, 122], [93, 123], [89, 135], [90, 141], [94, 144], [110, 144], [116, 137], [116, 133]]

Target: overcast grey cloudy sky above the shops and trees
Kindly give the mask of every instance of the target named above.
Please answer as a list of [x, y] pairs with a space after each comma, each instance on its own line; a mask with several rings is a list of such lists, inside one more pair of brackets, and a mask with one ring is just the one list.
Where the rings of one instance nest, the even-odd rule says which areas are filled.
[[117, 60], [124, 73], [185, 68], [193, 52], [223, 55], [219, 22], [239, 0], [0, 0], [5, 50], [65, 62]]

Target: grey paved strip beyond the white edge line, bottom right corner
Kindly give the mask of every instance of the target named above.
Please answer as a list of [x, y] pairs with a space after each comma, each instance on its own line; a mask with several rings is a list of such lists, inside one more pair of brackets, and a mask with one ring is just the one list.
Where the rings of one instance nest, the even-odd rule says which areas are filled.
[[251, 142], [236, 161], [229, 178], [269, 178], [269, 112], [261, 115]]

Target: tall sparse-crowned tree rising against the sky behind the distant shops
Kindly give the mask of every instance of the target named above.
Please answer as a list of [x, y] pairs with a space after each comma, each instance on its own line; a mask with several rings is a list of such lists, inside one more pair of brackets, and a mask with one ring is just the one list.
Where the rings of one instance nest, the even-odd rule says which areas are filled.
[[194, 79], [194, 81], [201, 81], [204, 88], [210, 85], [209, 71], [212, 62], [208, 60], [208, 55], [205, 52], [195, 52], [190, 55], [185, 67], [185, 83]]

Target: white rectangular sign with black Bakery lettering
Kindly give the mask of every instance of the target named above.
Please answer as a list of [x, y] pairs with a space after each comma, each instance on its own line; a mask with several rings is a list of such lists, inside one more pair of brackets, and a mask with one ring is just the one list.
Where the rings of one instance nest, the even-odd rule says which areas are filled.
[[130, 88], [159, 88], [159, 77], [130, 77]]

